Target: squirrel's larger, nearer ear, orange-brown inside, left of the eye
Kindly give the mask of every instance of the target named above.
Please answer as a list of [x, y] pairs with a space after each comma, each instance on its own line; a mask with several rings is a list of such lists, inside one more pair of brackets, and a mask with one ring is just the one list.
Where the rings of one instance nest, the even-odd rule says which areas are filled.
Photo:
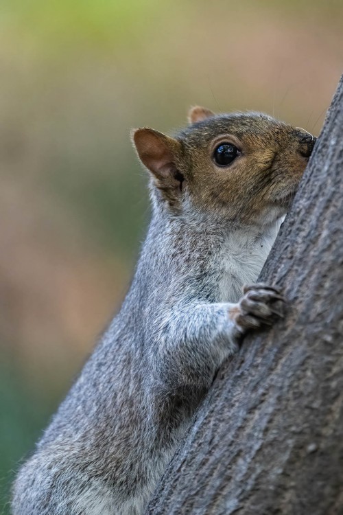
[[131, 137], [139, 159], [156, 179], [164, 187], [179, 187], [181, 174], [176, 161], [180, 155], [180, 143], [151, 128], [134, 129]]

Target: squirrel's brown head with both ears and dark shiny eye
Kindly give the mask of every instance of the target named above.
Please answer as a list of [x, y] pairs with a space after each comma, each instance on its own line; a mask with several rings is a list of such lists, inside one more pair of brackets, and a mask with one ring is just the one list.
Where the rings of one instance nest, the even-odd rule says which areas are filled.
[[175, 137], [152, 128], [132, 131], [166, 209], [187, 214], [191, 206], [247, 225], [287, 212], [316, 137], [262, 113], [215, 115], [196, 106], [188, 119]]

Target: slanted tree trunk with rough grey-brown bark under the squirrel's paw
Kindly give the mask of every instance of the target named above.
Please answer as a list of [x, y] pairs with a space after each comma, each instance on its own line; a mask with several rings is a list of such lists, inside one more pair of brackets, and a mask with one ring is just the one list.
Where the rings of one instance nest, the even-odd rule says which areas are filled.
[[343, 80], [261, 281], [286, 317], [222, 367], [147, 514], [343, 514]]

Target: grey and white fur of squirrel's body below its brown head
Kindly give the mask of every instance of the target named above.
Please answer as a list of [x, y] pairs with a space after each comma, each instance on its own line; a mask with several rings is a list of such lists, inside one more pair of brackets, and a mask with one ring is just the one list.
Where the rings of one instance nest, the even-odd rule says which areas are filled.
[[215, 372], [237, 350], [244, 328], [228, 314], [242, 285], [256, 281], [283, 213], [246, 227], [197, 211], [187, 190], [178, 214], [153, 181], [150, 192], [130, 291], [19, 471], [14, 515], [141, 514]]

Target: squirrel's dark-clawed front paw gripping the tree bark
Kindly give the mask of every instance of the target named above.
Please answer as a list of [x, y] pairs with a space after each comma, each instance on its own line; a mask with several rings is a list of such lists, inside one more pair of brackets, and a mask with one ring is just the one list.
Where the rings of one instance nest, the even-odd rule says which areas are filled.
[[244, 286], [244, 297], [229, 312], [240, 332], [259, 328], [263, 324], [272, 325], [278, 317], [283, 317], [278, 302], [285, 302], [277, 288], [267, 284]]

